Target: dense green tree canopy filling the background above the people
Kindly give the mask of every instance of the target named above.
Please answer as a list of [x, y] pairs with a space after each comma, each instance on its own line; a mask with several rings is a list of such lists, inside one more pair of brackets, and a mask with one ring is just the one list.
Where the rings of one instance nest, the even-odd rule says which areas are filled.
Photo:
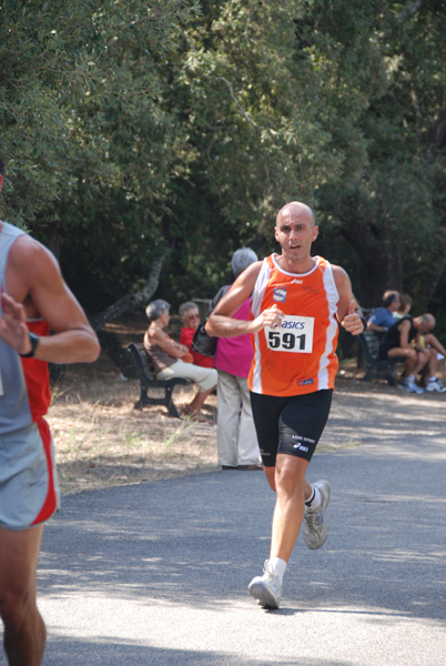
[[158, 295], [212, 296], [296, 199], [364, 305], [442, 310], [439, 0], [0, 0], [0, 34], [1, 214], [91, 313], [164, 255]]

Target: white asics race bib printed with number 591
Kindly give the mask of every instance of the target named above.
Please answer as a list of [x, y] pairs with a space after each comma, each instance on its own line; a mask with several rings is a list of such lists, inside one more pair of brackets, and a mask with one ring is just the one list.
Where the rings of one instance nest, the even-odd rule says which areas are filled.
[[276, 329], [265, 326], [265, 337], [270, 350], [310, 354], [313, 351], [313, 316], [284, 315]]

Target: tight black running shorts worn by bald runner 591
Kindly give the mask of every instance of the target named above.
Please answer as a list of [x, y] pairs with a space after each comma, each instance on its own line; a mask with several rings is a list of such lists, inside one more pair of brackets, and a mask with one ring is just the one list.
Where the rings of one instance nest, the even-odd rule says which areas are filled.
[[277, 453], [311, 461], [332, 405], [332, 389], [277, 397], [251, 393], [262, 461], [274, 467]]

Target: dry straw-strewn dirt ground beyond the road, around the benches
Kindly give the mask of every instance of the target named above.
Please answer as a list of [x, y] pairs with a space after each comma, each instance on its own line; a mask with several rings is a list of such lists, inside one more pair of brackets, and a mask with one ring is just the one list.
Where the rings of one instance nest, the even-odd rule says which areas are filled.
[[[142, 340], [144, 325], [143, 317], [129, 315], [108, 329], [125, 345]], [[346, 394], [347, 400], [334, 401], [333, 410], [342, 411], [344, 404], [359, 407], [373, 395], [398, 392], [385, 382], [362, 382], [363, 374], [355, 359], [342, 363], [336, 393]], [[445, 377], [444, 367], [439, 374]], [[176, 387], [175, 404], [184, 406], [194, 392], [190, 386]], [[104, 352], [93, 365], [67, 369], [53, 390], [48, 414], [62, 494], [219, 468], [215, 395], [205, 404], [205, 413], [213, 420], [209, 425], [169, 417], [164, 406], [135, 410], [139, 394], [138, 380], [125, 380]], [[424, 401], [430, 397], [439, 396], [423, 395]], [[332, 446], [348, 446], [348, 441]]]

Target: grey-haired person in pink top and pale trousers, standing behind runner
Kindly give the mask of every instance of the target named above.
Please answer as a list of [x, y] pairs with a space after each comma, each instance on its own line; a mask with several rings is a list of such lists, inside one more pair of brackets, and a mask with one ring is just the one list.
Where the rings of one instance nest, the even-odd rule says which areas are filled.
[[[231, 262], [234, 276], [255, 261], [257, 255], [250, 248], [236, 250]], [[250, 319], [250, 299], [233, 316]], [[252, 357], [250, 335], [219, 337], [214, 365], [219, 375], [217, 447], [222, 470], [262, 470], [246, 381]]]

